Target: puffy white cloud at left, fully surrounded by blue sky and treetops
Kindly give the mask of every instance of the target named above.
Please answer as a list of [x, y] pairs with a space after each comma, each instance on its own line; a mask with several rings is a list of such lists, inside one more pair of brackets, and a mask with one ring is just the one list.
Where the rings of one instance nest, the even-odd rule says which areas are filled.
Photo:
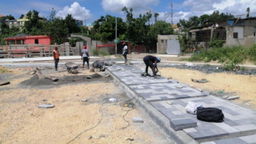
[[90, 20], [92, 14], [90, 10], [87, 10], [85, 7], [82, 7], [78, 2], [74, 2], [71, 6], [65, 6], [63, 10], [59, 11], [56, 16], [65, 18], [68, 14], [71, 14], [73, 18], [76, 20], [84, 21], [85, 17], [86, 20]]

